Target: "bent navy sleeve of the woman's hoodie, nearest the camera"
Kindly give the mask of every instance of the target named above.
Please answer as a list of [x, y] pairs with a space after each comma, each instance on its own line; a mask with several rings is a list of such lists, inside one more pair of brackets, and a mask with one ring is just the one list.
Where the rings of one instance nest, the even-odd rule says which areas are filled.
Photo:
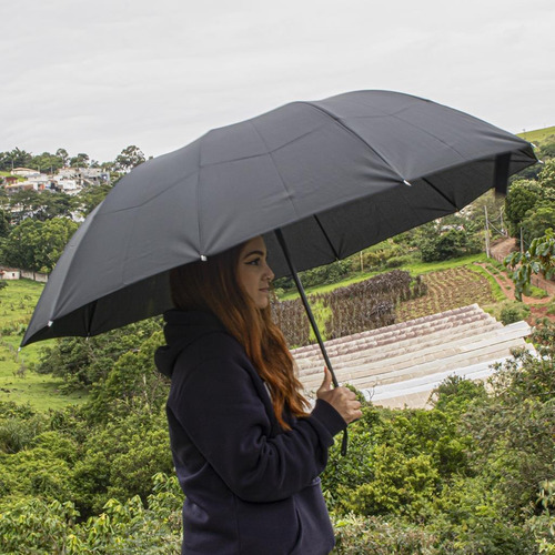
[[282, 500], [324, 470], [333, 436], [346, 424], [319, 400], [291, 431], [269, 437], [271, 422], [245, 363], [238, 356], [203, 361], [186, 373], [169, 407], [235, 495]]

